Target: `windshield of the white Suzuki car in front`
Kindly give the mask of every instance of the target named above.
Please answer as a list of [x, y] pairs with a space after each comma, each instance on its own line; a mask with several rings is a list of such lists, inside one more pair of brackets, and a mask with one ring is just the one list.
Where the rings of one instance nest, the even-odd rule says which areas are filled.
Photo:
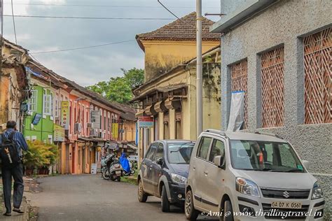
[[230, 144], [230, 158], [234, 169], [304, 172], [300, 159], [288, 143], [233, 140]]

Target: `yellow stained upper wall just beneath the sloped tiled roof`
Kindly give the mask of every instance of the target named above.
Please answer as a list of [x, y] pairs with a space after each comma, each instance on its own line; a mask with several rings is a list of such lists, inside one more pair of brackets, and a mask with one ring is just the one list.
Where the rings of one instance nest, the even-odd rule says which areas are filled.
[[[195, 41], [142, 41], [142, 43], [145, 48], [145, 81], [196, 57]], [[203, 41], [202, 52], [216, 45], [219, 45], [219, 41]]]

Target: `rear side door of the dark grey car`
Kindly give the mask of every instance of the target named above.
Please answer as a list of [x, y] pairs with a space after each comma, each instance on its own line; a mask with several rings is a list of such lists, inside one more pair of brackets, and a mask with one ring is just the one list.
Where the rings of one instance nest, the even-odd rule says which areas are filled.
[[148, 152], [141, 162], [141, 176], [143, 180], [144, 191], [149, 194], [153, 194], [153, 185], [152, 185], [152, 159], [155, 155], [155, 150], [157, 150], [158, 143], [152, 143]]

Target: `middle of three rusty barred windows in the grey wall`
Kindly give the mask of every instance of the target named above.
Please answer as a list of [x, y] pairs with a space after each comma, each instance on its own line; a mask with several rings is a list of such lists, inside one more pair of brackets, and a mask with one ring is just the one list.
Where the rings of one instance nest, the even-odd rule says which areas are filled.
[[284, 126], [284, 46], [261, 55], [262, 126]]

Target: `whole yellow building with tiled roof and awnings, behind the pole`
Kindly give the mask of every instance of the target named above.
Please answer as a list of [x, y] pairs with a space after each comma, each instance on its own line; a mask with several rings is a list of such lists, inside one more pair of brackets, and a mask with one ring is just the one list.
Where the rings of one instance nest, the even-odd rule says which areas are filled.
[[[145, 51], [145, 83], [133, 92], [138, 107], [139, 157], [158, 139], [196, 140], [195, 13], [147, 34], [137, 35]], [[203, 27], [203, 127], [219, 129], [220, 44]]]

